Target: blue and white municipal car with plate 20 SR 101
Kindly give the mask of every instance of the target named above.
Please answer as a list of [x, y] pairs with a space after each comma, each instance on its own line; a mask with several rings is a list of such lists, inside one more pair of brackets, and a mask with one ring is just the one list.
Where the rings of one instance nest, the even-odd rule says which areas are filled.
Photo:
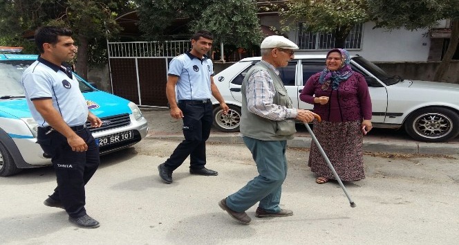
[[[37, 123], [27, 107], [21, 76], [37, 55], [0, 54], [0, 176], [27, 167], [50, 165], [37, 141]], [[88, 109], [102, 120], [90, 128], [99, 140], [100, 154], [138, 143], [147, 135], [147, 120], [133, 102], [95, 89], [76, 75]], [[91, 123], [86, 123], [91, 127]]]

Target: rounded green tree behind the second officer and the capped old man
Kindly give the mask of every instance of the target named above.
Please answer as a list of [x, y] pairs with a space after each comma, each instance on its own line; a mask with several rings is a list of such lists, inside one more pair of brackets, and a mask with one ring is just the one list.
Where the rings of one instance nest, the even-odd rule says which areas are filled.
[[225, 52], [226, 55], [236, 48], [252, 49], [260, 44], [263, 37], [256, 12], [255, 1], [218, 1], [203, 11], [194, 30], [212, 32], [214, 44], [223, 43], [227, 46], [229, 52]]

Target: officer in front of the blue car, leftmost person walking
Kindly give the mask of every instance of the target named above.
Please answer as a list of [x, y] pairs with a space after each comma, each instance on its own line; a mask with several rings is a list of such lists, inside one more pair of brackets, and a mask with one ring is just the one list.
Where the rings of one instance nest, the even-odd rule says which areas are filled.
[[86, 214], [84, 185], [100, 163], [99, 148], [86, 128], [100, 127], [102, 121], [88, 111], [71, 69], [62, 62], [76, 53], [72, 31], [47, 26], [39, 28], [35, 43], [38, 60], [24, 71], [22, 84], [28, 107], [38, 124], [37, 143], [52, 156], [57, 188], [46, 206], [64, 208], [71, 223], [83, 228], [97, 228], [99, 222]]

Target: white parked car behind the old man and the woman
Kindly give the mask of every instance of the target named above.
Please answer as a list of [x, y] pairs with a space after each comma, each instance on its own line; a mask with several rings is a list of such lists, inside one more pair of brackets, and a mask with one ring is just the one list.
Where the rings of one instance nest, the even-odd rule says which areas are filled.
[[[279, 69], [293, 105], [312, 110], [313, 105], [299, 100], [299, 94], [311, 75], [325, 67], [325, 55], [295, 55], [288, 66]], [[214, 76], [214, 81], [229, 113], [223, 115], [214, 103], [214, 127], [238, 131], [241, 120], [241, 84], [247, 71], [261, 60], [250, 57], [229, 66]], [[350, 65], [365, 76], [373, 104], [373, 127], [399, 129], [415, 140], [444, 142], [459, 134], [459, 84], [403, 80], [388, 75], [364, 57], [355, 56]]]

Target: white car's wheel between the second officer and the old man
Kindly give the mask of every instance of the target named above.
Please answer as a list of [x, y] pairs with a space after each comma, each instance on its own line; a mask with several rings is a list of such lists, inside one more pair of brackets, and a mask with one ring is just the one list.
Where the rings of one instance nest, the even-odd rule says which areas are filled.
[[223, 115], [220, 107], [215, 107], [214, 113], [214, 127], [224, 132], [237, 132], [241, 123], [241, 108], [234, 105], [228, 105], [229, 111]]

